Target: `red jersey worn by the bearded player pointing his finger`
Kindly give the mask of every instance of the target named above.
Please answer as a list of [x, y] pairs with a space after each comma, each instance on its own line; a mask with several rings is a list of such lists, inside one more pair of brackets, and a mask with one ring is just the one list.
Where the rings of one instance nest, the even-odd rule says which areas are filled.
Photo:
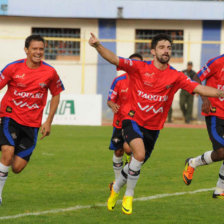
[[129, 74], [129, 97], [124, 119], [150, 130], [160, 130], [166, 121], [174, 94], [182, 88], [192, 93], [198, 83], [170, 65], [159, 70], [153, 61], [119, 59], [119, 69]]

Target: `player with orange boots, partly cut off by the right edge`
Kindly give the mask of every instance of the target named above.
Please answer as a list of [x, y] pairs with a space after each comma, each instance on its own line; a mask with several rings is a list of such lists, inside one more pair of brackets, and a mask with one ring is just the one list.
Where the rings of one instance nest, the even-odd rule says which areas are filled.
[[[194, 80], [198, 83], [206, 80], [206, 86], [224, 90], [224, 55], [209, 60], [198, 74], [194, 76]], [[205, 116], [213, 150], [186, 160], [183, 179], [187, 185], [191, 183], [196, 167], [224, 160], [224, 97], [208, 98], [202, 96], [202, 102], [202, 115]], [[219, 178], [213, 197], [224, 199], [223, 163], [219, 171]]]

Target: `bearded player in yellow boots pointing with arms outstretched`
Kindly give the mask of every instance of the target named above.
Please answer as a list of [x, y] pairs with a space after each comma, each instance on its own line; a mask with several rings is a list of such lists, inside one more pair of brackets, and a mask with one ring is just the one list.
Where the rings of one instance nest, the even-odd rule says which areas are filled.
[[202, 86], [171, 67], [168, 62], [171, 57], [172, 41], [166, 34], [159, 34], [152, 39], [152, 61], [119, 58], [105, 48], [93, 33], [89, 44], [105, 60], [126, 71], [130, 76], [129, 97], [125, 106], [122, 128], [133, 156], [130, 164], [124, 166], [122, 175], [114, 183], [107, 207], [110, 211], [114, 209], [121, 187], [127, 184], [122, 211], [125, 214], [132, 214], [134, 189], [141, 166], [151, 155], [159, 130], [163, 128], [167, 118], [174, 94], [182, 88], [189, 93], [224, 97], [224, 91]]

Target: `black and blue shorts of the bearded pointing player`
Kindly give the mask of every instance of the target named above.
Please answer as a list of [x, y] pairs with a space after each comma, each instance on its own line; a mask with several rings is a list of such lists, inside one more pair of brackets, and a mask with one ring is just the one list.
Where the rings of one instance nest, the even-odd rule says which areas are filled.
[[[145, 145], [145, 160], [151, 156], [154, 145], [159, 136], [159, 130], [149, 130], [139, 126], [133, 120], [124, 120], [122, 122], [122, 129], [124, 132], [124, 139], [129, 144], [135, 138], [142, 138]], [[130, 145], [130, 144], [129, 144]]]

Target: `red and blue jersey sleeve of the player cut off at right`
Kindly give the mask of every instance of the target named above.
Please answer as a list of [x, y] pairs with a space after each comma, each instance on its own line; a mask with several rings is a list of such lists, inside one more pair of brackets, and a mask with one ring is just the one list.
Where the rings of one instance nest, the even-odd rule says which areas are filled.
[[216, 61], [215, 58], [209, 60], [198, 72], [197, 76], [201, 81], [209, 78], [215, 73], [216, 70]]

